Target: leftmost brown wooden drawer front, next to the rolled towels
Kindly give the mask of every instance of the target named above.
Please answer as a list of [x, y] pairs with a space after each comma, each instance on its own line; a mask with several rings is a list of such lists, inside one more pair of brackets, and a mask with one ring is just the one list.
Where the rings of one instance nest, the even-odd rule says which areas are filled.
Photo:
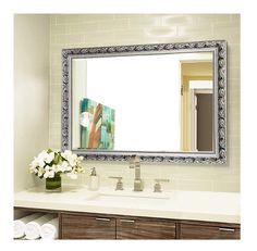
[[62, 239], [115, 239], [115, 219], [62, 214]]

